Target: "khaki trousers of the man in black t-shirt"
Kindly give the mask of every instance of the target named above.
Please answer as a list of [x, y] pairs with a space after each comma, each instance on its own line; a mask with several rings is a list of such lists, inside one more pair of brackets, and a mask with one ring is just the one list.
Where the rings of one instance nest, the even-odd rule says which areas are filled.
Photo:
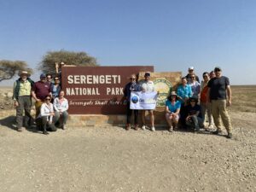
[[212, 100], [212, 117], [214, 124], [217, 126], [218, 131], [221, 131], [221, 121], [228, 132], [232, 132], [232, 125], [230, 122], [230, 115], [227, 111], [226, 100]]

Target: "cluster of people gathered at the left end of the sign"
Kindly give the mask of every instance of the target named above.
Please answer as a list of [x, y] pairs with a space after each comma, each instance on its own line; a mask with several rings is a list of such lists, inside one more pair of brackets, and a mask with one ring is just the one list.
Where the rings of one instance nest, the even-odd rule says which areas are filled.
[[54, 82], [50, 74], [42, 73], [38, 82], [30, 79], [30, 75], [26, 71], [20, 72], [20, 78], [14, 84], [17, 131], [22, 131], [22, 127], [28, 128], [33, 123], [32, 98], [35, 101], [35, 122], [38, 129], [45, 135], [49, 134], [48, 131], [57, 131], [57, 127], [64, 130], [68, 118], [68, 102], [64, 97], [64, 90], [61, 90], [60, 73], [56, 74]]

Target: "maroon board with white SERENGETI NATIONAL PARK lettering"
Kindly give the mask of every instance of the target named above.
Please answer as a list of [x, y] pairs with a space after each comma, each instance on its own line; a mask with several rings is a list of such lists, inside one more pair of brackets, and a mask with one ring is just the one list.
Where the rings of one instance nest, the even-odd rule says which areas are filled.
[[125, 114], [125, 84], [132, 73], [140, 72], [154, 72], [154, 67], [63, 67], [61, 84], [68, 113]]

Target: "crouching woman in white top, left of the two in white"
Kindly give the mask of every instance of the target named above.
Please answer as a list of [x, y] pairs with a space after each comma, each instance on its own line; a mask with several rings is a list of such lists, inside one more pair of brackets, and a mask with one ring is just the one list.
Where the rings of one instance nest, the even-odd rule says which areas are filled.
[[48, 131], [57, 131], [55, 127], [54, 108], [50, 100], [50, 96], [45, 97], [37, 119], [38, 125], [40, 125], [40, 129], [43, 131], [44, 135], [48, 135]]

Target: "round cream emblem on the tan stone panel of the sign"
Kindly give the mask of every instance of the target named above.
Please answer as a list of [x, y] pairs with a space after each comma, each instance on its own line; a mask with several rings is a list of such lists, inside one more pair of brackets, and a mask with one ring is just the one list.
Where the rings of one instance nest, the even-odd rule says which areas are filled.
[[167, 96], [172, 91], [172, 84], [167, 79], [154, 79], [155, 90], [159, 91], [157, 98], [157, 107], [164, 107], [166, 105]]

